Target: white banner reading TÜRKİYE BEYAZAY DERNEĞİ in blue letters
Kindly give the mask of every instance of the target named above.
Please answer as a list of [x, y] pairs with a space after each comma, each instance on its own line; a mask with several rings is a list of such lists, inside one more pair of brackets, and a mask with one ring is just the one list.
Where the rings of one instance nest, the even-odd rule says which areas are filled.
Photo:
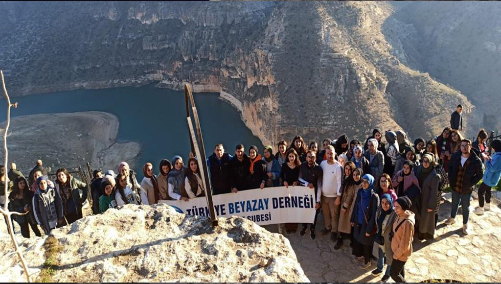
[[[304, 186], [250, 189], [215, 195], [213, 201], [217, 217], [236, 215], [258, 225], [313, 223], [315, 219], [315, 191]], [[210, 216], [205, 197], [159, 202], [187, 215]]]

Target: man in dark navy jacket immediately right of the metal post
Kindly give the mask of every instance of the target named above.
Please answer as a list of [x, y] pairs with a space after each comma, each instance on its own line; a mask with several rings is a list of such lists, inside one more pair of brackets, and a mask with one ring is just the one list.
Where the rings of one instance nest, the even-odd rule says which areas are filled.
[[207, 159], [213, 195], [232, 192], [229, 182], [231, 174], [229, 160], [231, 158], [231, 155], [224, 153], [222, 144], [217, 144], [214, 147], [214, 154]]

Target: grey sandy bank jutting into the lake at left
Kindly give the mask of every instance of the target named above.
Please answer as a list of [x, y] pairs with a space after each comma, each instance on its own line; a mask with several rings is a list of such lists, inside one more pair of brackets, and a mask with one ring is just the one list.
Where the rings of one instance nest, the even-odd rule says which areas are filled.
[[[4, 127], [5, 121], [0, 124], [2, 133]], [[14, 117], [7, 137], [8, 162], [15, 162], [26, 176], [37, 159], [51, 166], [52, 172], [78, 165], [86, 169], [87, 162], [93, 169], [115, 170], [121, 161], [134, 167], [140, 145], [119, 143], [118, 127], [117, 116], [99, 111]]]

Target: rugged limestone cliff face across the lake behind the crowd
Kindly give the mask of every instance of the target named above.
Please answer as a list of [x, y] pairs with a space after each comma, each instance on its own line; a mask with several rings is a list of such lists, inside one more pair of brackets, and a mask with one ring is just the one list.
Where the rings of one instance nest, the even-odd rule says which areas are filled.
[[386, 3], [5, 7], [0, 66], [13, 95], [190, 82], [194, 91], [219, 92], [265, 145], [296, 134], [362, 138], [373, 127], [429, 137], [448, 124], [455, 104], [471, 106], [411, 69], [418, 58], [399, 56], [398, 41], [383, 34], [393, 13]]

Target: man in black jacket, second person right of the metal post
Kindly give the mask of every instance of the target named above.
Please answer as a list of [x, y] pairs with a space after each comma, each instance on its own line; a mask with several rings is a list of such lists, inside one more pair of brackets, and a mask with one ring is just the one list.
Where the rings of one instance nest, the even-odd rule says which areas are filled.
[[231, 192], [238, 192], [250, 188], [250, 159], [245, 155], [242, 144], [235, 147], [235, 156], [229, 161], [229, 182]]

